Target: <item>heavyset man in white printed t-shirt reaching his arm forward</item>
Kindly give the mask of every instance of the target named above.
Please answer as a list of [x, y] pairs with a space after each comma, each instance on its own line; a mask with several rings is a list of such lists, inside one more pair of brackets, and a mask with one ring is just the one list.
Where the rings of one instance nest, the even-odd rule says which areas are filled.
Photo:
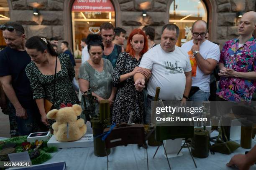
[[[151, 100], [153, 100], [156, 87], [161, 87], [159, 98], [162, 100], [182, 100], [185, 102], [191, 87], [191, 64], [189, 57], [175, 46], [179, 37], [179, 28], [174, 24], [164, 25], [162, 28], [161, 42], [146, 52], [140, 63], [151, 71], [147, 82], [148, 110], [146, 123], [150, 122]], [[134, 75], [136, 90], [145, 88], [146, 77], [141, 73]]]

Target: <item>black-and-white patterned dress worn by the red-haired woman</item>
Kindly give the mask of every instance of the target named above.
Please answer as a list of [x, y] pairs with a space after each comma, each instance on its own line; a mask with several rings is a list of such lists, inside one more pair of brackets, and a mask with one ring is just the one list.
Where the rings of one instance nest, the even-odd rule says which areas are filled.
[[[125, 61], [125, 57], [126, 63], [123, 70], [123, 62]], [[140, 62], [141, 58], [137, 61], [135, 57], [132, 57], [127, 52], [120, 53], [112, 75], [112, 82], [114, 84], [120, 83], [122, 70], [123, 74], [132, 72], [135, 67], [140, 65]], [[128, 122], [131, 111], [134, 112], [132, 122], [141, 122], [143, 120], [143, 91], [136, 91], [133, 76], [125, 80], [125, 86], [120, 87], [116, 93], [116, 98], [113, 105], [112, 123]]]

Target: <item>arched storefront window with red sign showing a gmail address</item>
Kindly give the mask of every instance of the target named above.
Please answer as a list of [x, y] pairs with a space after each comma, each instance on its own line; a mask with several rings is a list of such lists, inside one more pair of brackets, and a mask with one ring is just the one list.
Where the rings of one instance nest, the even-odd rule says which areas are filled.
[[81, 50], [81, 39], [100, 32], [100, 25], [106, 22], [115, 26], [115, 10], [110, 0], [75, 0], [72, 5], [73, 50]]

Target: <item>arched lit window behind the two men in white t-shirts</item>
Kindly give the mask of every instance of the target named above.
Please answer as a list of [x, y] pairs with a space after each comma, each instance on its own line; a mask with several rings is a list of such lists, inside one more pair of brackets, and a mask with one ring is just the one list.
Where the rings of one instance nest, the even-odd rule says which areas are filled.
[[192, 24], [196, 20], [207, 22], [207, 9], [202, 0], [174, 0], [169, 10], [169, 23], [179, 27], [178, 46], [190, 40]]

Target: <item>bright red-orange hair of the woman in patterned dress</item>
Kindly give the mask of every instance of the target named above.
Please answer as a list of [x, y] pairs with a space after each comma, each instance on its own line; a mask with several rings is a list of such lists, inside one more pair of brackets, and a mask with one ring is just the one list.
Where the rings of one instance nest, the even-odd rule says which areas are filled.
[[144, 46], [143, 46], [143, 49], [141, 50], [140, 55], [145, 54], [145, 52], [147, 52], [147, 50], [148, 50], [148, 40], [147, 40], [145, 33], [143, 32], [143, 30], [136, 28], [129, 35], [128, 40], [127, 40], [127, 46], [126, 46], [126, 52], [129, 52], [129, 54], [133, 57], [135, 56], [135, 50], [133, 49], [133, 47], [130, 43], [130, 40], [132, 41], [133, 36], [136, 34], [141, 34], [144, 37]]

